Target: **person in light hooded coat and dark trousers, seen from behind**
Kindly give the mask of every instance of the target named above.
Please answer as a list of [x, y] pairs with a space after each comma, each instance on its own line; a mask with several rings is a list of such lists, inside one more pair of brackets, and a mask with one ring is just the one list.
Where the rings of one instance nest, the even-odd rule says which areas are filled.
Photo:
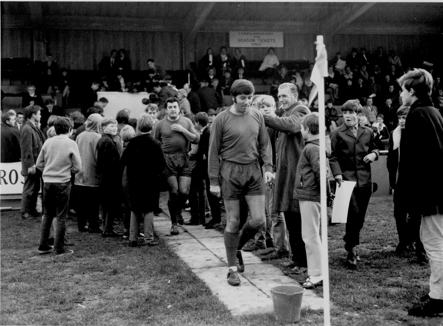
[[[89, 111], [89, 110], [88, 110]], [[100, 192], [98, 189], [99, 175], [97, 173], [97, 142], [101, 138], [101, 114], [89, 114], [86, 120], [85, 130], [76, 138], [80, 158], [82, 159], [82, 169], [75, 175], [74, 185], [78, 193], [78, 229], [89, 231], [89, 233], [101, 233], [103, 229], [99, 225], [98, 200]], [[86, 221], [89, 226], [85, 229]]]

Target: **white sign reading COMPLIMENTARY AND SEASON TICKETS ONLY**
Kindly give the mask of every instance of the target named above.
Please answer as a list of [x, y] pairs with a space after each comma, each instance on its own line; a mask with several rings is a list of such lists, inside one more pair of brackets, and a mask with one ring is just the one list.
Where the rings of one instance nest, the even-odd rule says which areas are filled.
[[283, 32], [230, 31], [229, 47], [283, 47]]

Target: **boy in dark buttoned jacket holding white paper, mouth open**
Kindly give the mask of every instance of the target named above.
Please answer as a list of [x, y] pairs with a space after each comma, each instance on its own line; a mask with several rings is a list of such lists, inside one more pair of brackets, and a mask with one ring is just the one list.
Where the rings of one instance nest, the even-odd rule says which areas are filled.
[[357, 267], [360, 260], [355, 247], [360, 244], [360, 230], [372, 193], [370, 164], [378, 159], [379, 154], [372, 130], [358, 124], [362, 110], [357, 100], [345, 102], [342, 106], [345, 123], [330, 135], [332, 153], [329, 163], [338, 187], [343, 180], [357, 182], [351, 195], [343, 238], [348, 251], [346, 265], [350, 268]]

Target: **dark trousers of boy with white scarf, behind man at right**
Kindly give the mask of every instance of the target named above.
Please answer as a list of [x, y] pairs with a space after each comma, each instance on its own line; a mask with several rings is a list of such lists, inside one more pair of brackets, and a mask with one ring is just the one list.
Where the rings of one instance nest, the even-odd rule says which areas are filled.
[[406, 207], [401, 190], [394, 191], [394, 218], [397, 227], [398, 241], [400, 245], [406, 247], [415, 242], [417, 255], [425, 254], [423, 244], [420, 240], [421, 216], [408, 214], [404, 209]]

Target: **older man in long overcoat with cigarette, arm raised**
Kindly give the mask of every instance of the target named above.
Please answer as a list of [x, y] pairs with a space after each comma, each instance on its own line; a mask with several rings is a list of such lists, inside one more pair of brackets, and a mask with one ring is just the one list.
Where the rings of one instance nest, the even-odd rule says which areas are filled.
[[[297, 101], [298, 92], [295, 84], [285, 82], [278, 88], [278, 98], [283, 115], [263, 114], [266, 126], [275, 129], [276, 149], [276, 185], [274, 187], [274, 212], [284, 212], [286, 227], [289, 232], [289, 245], [292, 260], [285, 266], [293, 271], [307, 269], [306, 251], [301, 232], [301, 215], [298, 200], [292, 197], [295, 185], [295, 172], [302, 152], [304, 140], [301, 134], [301, 118], [310, 113], [307, 106]], [[269, 259], [289, 257], [288, 252], [274, 251]]]

